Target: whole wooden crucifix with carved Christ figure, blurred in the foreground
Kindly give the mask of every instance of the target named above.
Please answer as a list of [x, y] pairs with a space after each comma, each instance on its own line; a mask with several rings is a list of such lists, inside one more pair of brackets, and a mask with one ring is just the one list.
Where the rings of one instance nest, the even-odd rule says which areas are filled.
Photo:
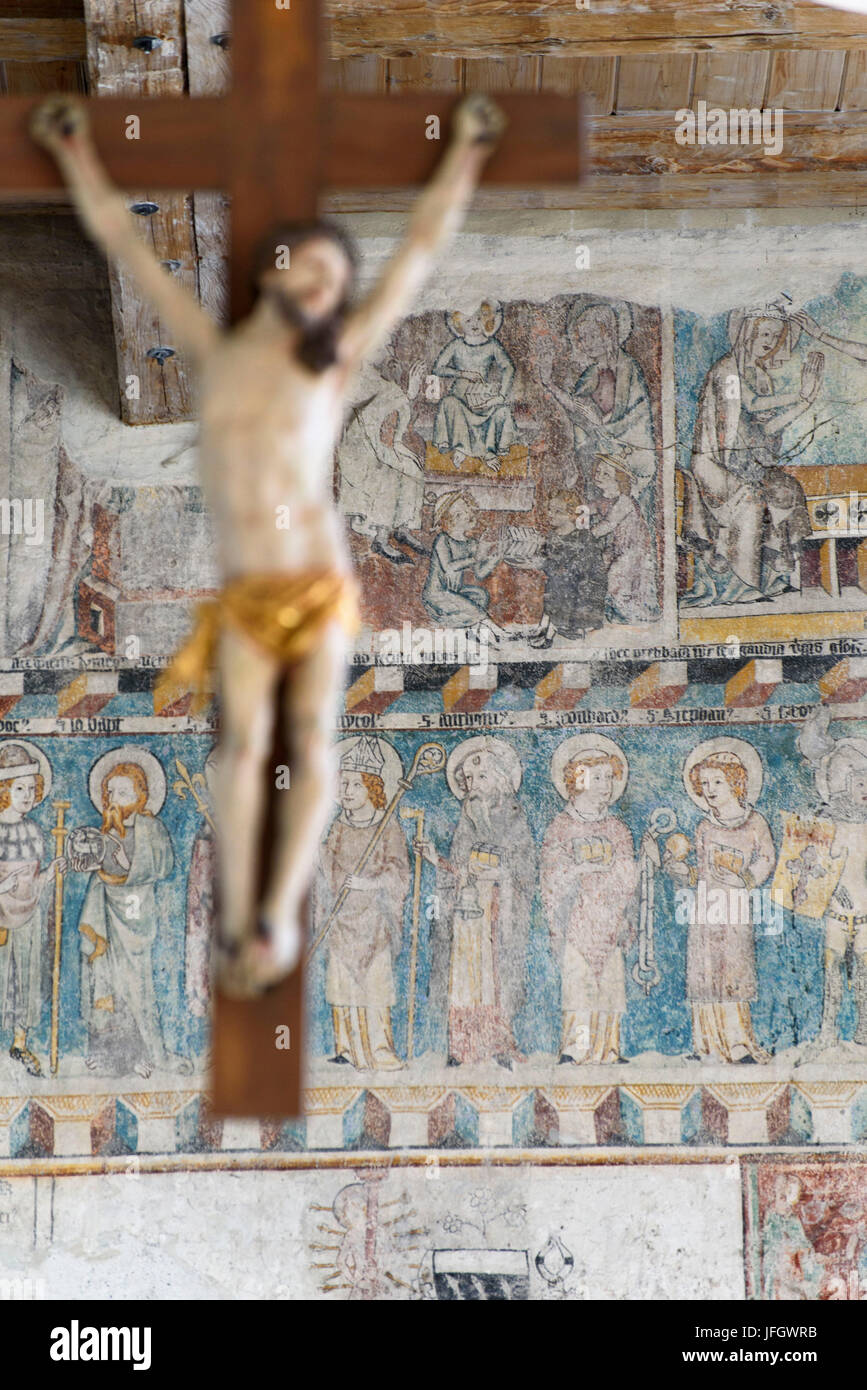
[[[338, 282], [338, 289], [349, 285], [352, 259], [347, 247], [342, 246], [339, 238], [320, 235], [318, 239], [314, 236], [310, 242], [308, 238], [297, 246], [275, 243], [268, 250], [270, 259], [263, 261], [263, 238], [281, 224], [315, 220], [318, 195], [324, 186], [377, 188], [425, 182], [439, 163], [439, 153], [446, 143], [454, 97], [432, 93], [400, 99], [335, 95], [325, 100], [318, 85], [318, 21], [320, 7], [315, 0], [235, 0], [231, 29], [232, 89], [226, 97], [188, 101], [122, 97], [78, 106], [71, 99], [64, 99], [65, 107], [57, 99], [53, 113], [42, 113], [40, 124], [35, 126], [40, 142], [61, 165], [85, 225], [108, 254], [125, 256], [133, 274], [138, 274], [143, 293], [161, 306], [161, 311], [174, 322], [182, 349], [200, 366], [203, 402], [206, 398], [217, 399], [225, 406], [222, 411], [215, 410], [208, 416], [203, 404], [201, 456], [221, 460], [210, 480], [208, 500], [214, 503], [217, 513], [217, 530], [222, 537], [222, 569], [229, 581], [222, 595], [224, 607], [226, 612], [231, 607], [229, 616], [236, 624], [232, 627], [226, 619], [217, 632], [211, 632], [220, 652], [224, 741], [228, 723], [228, 741], [232, 745], [232, 788], [242, 795], [245, 778], [253, 766], [260, 769], [260, 776], [267, 776], [274, 792], [274, 769], [282, 766], [283, 756], [290, 769], [290, 785], [295, 785], [297, 762], [300, 778], [307, 778], [310, 784], [311, 805], [315, 802], [317, 806], [310, 821], [317, 831], [322, 820], [327, 764], [310, 748], [315, 746], [317, 721], [322, 721], [322, 710], [329, 706], [335, 692], [338, 657], [342, 652], [332, 642], [331, 653], [328, 649], [324, 655], [321, 651], [311, 653], [303, 638], [306, 627], [317, 626], [321, 612], [335, 617], [345, 606], [346, 575], [340, 573], [339, 559], [322, 573], [315, 567], [311, 570], [313, 552], [317, 556], [332, 552], [339, 556], [340, 543], [335, 541], [328, 518], [317, 516], [321, 499], [314, 496], [315, 489], [307, 498], [302, 489], [302, 496], [293, 498], [295, 503], [300, 502], [296, 531], [299, 550], [295, 560], [302, 570], [306, 567], [310, 571], [311, 578], [297, 591], [283, 589], [274, 602], [275, 595], [267, 581], [279, 570], [275, 560], [278, 552], [271, 553], [267, 537], [257, 549], [256, 537], [245, 532], [243, 513], [247, 502], [253, 507], [267, 505], [275, 512], [286, 499], [279, 488], [271, 492], [264, 488], [263, 474], [267, 470], [258, 468], [257, 459], [253, 457], [250, 421], [267, 418], [271, 410], [278, 416], [282, 411], [282, 425], [278, 421], [278, 430], [283, 428], [286, 432], [295, 428], [297, 432], [299, 413], [308, 410], [311, 393], [321, 392], [324, 416], [320, 432], [333, 439], [339, 427], [336, 407], [342, 396], [342, 389], [335, 389], [333, 382], [342, 382], [339, 373], [346, 375], [356, 360], [375, 345], [400, 306], [403, 310], [408, 307], [407, 296], [429, 268], [428, 260], [436, 245], [456, 225], [457, 214], [471, 196], [482, 167], [490, 182], [515, 186], [574, 185], [581, 172], [579, 111], [574, 97], [507, 96], [497, 103], [502, 111], [484, 101], [475, 107], [464, 104], [456, 118], [457, 135], [440, 165], [445, 172], [438, 174], [438, 181], [428, 189], [427, 202], [420, 204], [415, 215], [414, 242], [410, 236], [404, 252], [396, 257], [365, 304], [346, 313], [335, 338], [336, 346], [329, 346], [325, 335], [310, 329], [310, 324], [318, 321], [317, 296], [322, 304], [328, 304], [328, 311], [336, 310], [336, 300], [333, 304], [328, 303], [331, 288]], [[35, 106], [32, 99], [0, 99], [0, 195], [26, 192], [32, 196], [58, 182], [51, 158], [36, 147], [28, 133]], [[493, 117], [492, 111], [496, 113]], [[507, 133], [493, 150], [502, 114]], [[131, 117], [136, 117], [132, 124], [133, 139], [129, 138]], [[86, 133], [88, 122], [99, 163]], [[192, 300], [186, 302], [181, 288], [158, 270], [149, 253], [140, 249], [140, 243], [139, 250], [135, 250], [135, 238], [125, 229], [125, 207], [114, 197], [106, 172], [121, 188], [214, 188], [231, 195], [232, 316], [239, 320], [250, 309], [257, 256], [260, 307], [238, 332], [222, 341], [220, 350], [215, 348], [218, 331], [199, 306], [193, 306]], [[429, 235], [425, 231], [428, 224]], [[285, 265], [279, 260], [283, 253], [288, 253]], [[285, 284], [293, 286], [290, 295], [285, 292], [283, 279], [279, 278], [283, 271]], [[293, 345], [293, 352], [297, 349], [295, 366], [300, 361], [310, 373], [308, 377], [296, 371], [295, 375], [286, 373], [283, 378], [274, 367], [270, 350], [279, 341], [279, 334], [283, 334], [285, 343]], [[283, 353], [288, 357], [285, 346]], [[261, 395], [265, 389], [263, 378], [265, 386], [268, 382], [271, 385], [270, 396]], [[331, 389], [327, 391], [320, 382], [331, 382]], [[251, 395], [245, 403], [246, 389], [256, 389], [260, 395]], [[246, 435], [240, 428], [242, 423]], [[232, 439], [235, 453], [231, 452]], [[311, 450], [314, 455], [322, 452], [320, 445], [317, 435]], [[207, 474], [207, 467], [204, 473]], [[207, 496], [207, 477], [204, 482]], [[220, 513], [224, 513], [225, 523], [226, 507], [229, 513], [235, 507], [233, 520], [228, 527], [224, 524], [221, 532]], [[304, 523], [306, 510], [313, 516], [308, 524]], [[258, 564], [258, 574], [250, 573], [251, 556]], [[236, 582], [239, 571], [243, 584]], [[260, 584], [260, 589], [256, 589], [253, 581], [261, 581], [263, 574], [264, 588]], [[286, 660], [292, 652], [293, 660], [303, 659], [310, 666], [300, 696], [299, 689], [293, 694], [285, 688], [285, 662], [282, 666], [268, 663], [265, 657], [257, 657], [251, 646], [243, 645], [243, 631], [249, 631], [250, 621], [254, 626], [258, 623], [257, 603], [263, 607], [270, 605], [271, 626], [279, 628], [283, 624], [290, 628], [295, 645], [283, 648]], [[331, 623], [328, 631], [333, 627]], [[275, 719], [272, 727], [267, 720], [245, 717], [247, 708], [256, 710], [256, 701], [263, 694], [267, 695], [272, 713], [276, 709], [285, 714], [285, 719]], [[279, 748], [281, 723], [285, 724], [289, 739], [285, 752]], [[310, 748], [296, 758], [292, 735], [299, 730], [299, 748], [307, 738], [303, 733], [306, 730], [310, 730]], [[263, 756], [264, 742], [268, 739], [276, 739], [270, 758]], [[258, 835], [261, 840], [257, 901], [264, 908], [258, 909], [257, 930], [250, 940], [242, 942], [243, 959], [249, 970], [251, 960], [258, 960], [260, 965], [263, 959], [271, 960], [271, 952], [276, 979], [279, 951], [270, 923], [271, 909], [267, 897], [263, 897], [268, 881], [263, 866], [267, 867], [274, 848], [268, 831], [278, 827], [276, 834], [285, 833], [295, 845], [296, 860], [299, 844], [304, 844], [307, 876], [315, 844], [306, 844], [310, 827], [290, 824], [281, 831], [281, 792], [271, 799], [272, 810], [267, 815], [263, 812], [258, 826], [235, 824], [232, 830], [238, 830], [239, 835], [243, 831], [249, 840], [253, 828], [254, 838]], [[224, 827], [224, 851], [226, 842], [235, 844], [225, 840]], [[279, 845], [275, 852], [281, 853]], [[243, 858], [240, 848], [231, 853], [233, 858]], [[225, 890], [225, 874], [221, 883]], [[299, 881], [293, 883], [290, 891], [299, 895]], [[225, 915], [225, 892], [222, 910]], [[229, 913], [229, 917], [236, 929], [236, 913]], [[238, 940], [224, 938], [222, 944], [226, 949], [240, 948]], [[260, 954], [254, 956], [253, 951]], [[289, 955], [288, 951], [286, 962]], [[224, 984], [232, 979], [229, 965]], [[242, 998], [240, 994], [243, 991], [235, 987], [217, 990], [211, 1059], [214, 1111], [249, 1116], [297, 1115], [303, 1063], [300, 965], [288, 979], [279, 979], [256, 998]]]

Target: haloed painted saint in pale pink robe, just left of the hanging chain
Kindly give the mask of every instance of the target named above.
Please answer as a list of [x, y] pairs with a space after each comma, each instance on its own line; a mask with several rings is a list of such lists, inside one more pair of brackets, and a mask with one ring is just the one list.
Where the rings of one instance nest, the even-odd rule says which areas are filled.
[[635, 940], [638, 865], [629, 828], [611, 805], [629, 769], [610, 738], [578, 734], [552, 759], [565, 809], [542, 841], [540, 888], [560, 966], [560, 1062], [625, 1062], [625, 951]]

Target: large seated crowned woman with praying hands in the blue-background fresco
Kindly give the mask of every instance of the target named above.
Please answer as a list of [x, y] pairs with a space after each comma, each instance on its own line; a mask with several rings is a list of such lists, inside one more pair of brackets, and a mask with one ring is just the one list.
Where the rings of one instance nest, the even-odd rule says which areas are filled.
[[731, 350], [704, 377], [682, 474], [682, 543], [695, 567], [688, 607], [754, 603], [795, 587], [811, 525], [803, 488], [779, 459], [785, 430], [818, 396], [824, 357], [807, 354], [796, 392], [778, 392], [771, 374], [799, 332], [782, 310], [728, 317]]

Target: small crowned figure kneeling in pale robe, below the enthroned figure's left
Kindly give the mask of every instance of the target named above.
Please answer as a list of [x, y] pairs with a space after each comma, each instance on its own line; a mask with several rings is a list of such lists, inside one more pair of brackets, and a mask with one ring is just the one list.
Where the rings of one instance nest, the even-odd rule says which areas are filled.
[[488, 578], [503, 560], [507, 541], [486, 543], [472, 535], [478, 531], [479, 510], [468, 492], [446, 492], [436, 503], [434, 525], [439, 535], [421, 594], [425, 609], [443, 627], [478, 631], [484, 626], [493, 642], [507, 639], [506, 628], [488, 617], [488, 589], [465, 580], [467, 570], [477, 580]]

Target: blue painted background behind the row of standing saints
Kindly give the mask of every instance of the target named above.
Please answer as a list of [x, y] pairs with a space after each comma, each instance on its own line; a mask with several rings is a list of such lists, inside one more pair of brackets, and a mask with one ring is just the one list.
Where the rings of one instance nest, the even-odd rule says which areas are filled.
[[[864, 726], [861, 728], [861, 726]], [[848, 721], [848, 731], [867, 733], [867, 721]], [[592, 726], [582, 726], [585, 733]], [[728, 733], [748, 738], [761, 753], [764, 763], [764, 787], [757, 802], [757, 810], [768, 820], [777, 848], [782, 840], [782, 817], [786, 812], [807, 812], [814, 806], [814, 790], [803, 760], [795, 748], [798, 726], [782, 723], [756, 724], [729, 728]], [[834, 731], [834, 726], [832, 726]], [[563, 809], [563, 802], [552, 785], [549, 767], [554, 748], [575, 730], [527, 730], [496, 731], [496, 737], [507, 739], [518, 753], [524, 778], [518, 801], [528, 817], [531, 831], [540, 847], [550, 820]], [[681, 781], [684, 758], [707, 737], [720, 733], [718, 726], [693, 728], [622, 728], [606, 726], [607, 737], [614, 737], [629, 762], [629, 780], [616, 810], [632, 831], [635, 847], [647, 828], [650, 815], [657, 806], [670, 806], [679, 827], [692, 834], [700, 812], [686, 798]], [[26, 735], [24, 735], [26, 737]], [[404, 767], [421, 742], [435, 739], [452, 752], [456, 744], [470, 737], [467, 734], [439, 734], [414, 731], [411, 734], [388, 734], [389, 742], [400, 753]], [[122, 744], [138, 744], [153, 752], [167, 773], [168, 794], [160, 812], [175, 849], [175, 869], [170, 878], [158, 887], [161, 923], [154, 947], [154, 973], [161, 1026], [171, 1051], [185, 1055], [201, 1055], [206, 1045], [206, 1023], [189, 1015], [183, 988], [183, 962], [186, 937], [186, 892], [189, 859], [195, 837], [200, 833], [203, 820], [192, 799], [181, 799], [172, 790], [176, 777], [175, 758], [181, 758], [190, 773], [201, 771], [204, 759], [213, 746], [211, 735], [133, 735], [124, 738], [57, 737], [31, 738], [44, 751], [53, 766], [54, 783], [49, 798], [36, 808], [33, 819], [47, 833], [54, 824], [51, 799], [64, 798], [72, 802], [67, 813], [69, 827], [78, 824], [99, 824], [99, 815], [88, 796], [88, 776], [93, 762], [110, 748]], [[425, 812], [425, 837], [431, 838], [440, 853], [447, 855], [449, 845], [460, 815], [460, 803], [449, 792], [443, 773], [418, 777], [403, 805], [422, 808]], [[411, 855], [414, 826], [397, 817], [407, 835], [407, 849]], [[88, 876], [69, 873], [64, 892], [63, 965], [61, 965], [61, 1011], [60, 1047], [61, 1056], [82, 1054], [86, 1048], [86, 1031], [79, 1013], [79, 970], [81, 941], [78, 920], [88, 885]], [[415, 1008], [415, 1055], [425, 1051], [445, 1054], [446, 1019], [442, 1011], [428, 999], [428, 977], [431, 969], [432, 927], [429, 916], [435, 910], [436, 874], [422, 865], [421, 913], [420, 913], [420, 956], [418, 992]], [[635, 948], [627, 959], [628, 1012], [622, 1026], [622, 1045], [627, 1055], [643, 1051], [684, 1054], [689, 1051], [691, 1020], [685, 1001], [685, 956], [686, 924], [675, 919], [674, 885], [664, 876], [656, 880], [656, 955], [661, 983], [645, 997], [632, 980]], [[410, 969], [411, 938], [411, 894], [404, 908], [403, 949], [397, 956], [395, 974], [399, 1002], [393, 1011], [393, 1027], [397, 1051], [406, 1055], [407, 1041], [407, 988]], [[784, 930], [778, 935], [756, 930], [756, 958], [759, 973], [759, 998], [753, 1004], [753, 1022], [760, 1042], [773, 1051], [779, 1051], [803, 1042], [817, 1029], [821, 1015], [821, 923], [784, 915]], [[324, 995], [325, 954], [314, 960], [308, 977], [308, 1026], [311, 1048], [315, 1055], [328, 1056], [333, 1051], [331, 1011]], [[560, 1031], [560, 979], [549, 949], [547, 927], [539, 897], [534, 899], [529, 945], [527, 956], [527, 1002], [515, 1022], [518, 1047], [525, 1054], [553, 1054]], [[854, 1023], [852, 997], [848, 995], [842, 1015], [843, 1036], [850, 1036]], [[10, 1030], [3, 1038], [11, 1041]], [[6, 1045], [8, 1045], [6, 1041]], [[43, 1009], [39, 1030], [32, 1034], [36, 1051], [46, 1052], [49, 1045], [49, 1004]]]

